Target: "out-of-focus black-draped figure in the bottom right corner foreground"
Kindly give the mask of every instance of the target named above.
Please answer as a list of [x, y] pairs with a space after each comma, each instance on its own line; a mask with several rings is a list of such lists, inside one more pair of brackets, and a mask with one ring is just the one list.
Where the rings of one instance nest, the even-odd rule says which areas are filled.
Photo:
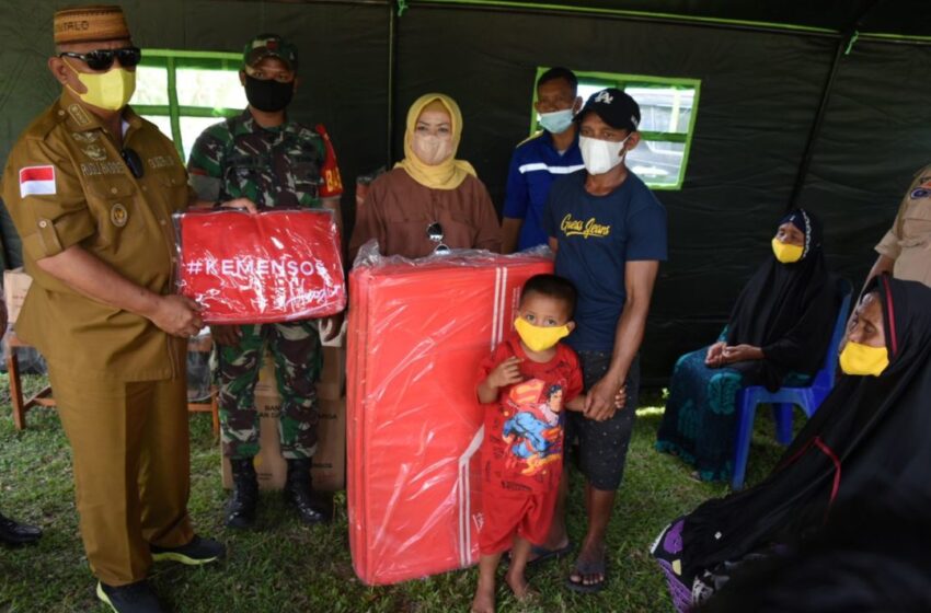
[[931, 611], [931, 499], [871, 491], [801, 546], [743, 564], [701, 613]]

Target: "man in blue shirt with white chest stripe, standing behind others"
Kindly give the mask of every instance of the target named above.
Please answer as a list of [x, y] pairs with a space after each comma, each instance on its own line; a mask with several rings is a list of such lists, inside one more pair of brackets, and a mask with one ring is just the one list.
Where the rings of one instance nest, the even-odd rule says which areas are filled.
[[566, 68], [551, 68], [537, 80], [537, 102], [543, 131], [517, 146], [510, 158], [502, 223], [502, 253], [545, 245], [543, 209], [559, 176], [582, 170], [578, 135], [573, 122], [582, 107], [578, 79]]

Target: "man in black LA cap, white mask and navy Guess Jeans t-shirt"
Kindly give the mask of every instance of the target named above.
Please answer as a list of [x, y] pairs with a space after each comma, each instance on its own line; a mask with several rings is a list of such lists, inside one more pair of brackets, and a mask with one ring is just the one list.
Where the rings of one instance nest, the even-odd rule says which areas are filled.
[[[567, 586], [595, 592], [606, 580], [605, 536], [633, 428], [636, 356], [666, 259], [666, 210], [624, 164], [640, 142], [636, 102], [620, 90], [602, 90], [576, 120], [585, 170], [553, 184], [544, 228], [556, 274], [578, 289], [576, 328], [566, 340], [578, 352], [588, 393], [585, 412], [567, 415], [567, 435], [579, 440], [588, 509], [588, 532]], [[613, 398], [623, 386], [627, 403], [616, 410]], [[554, 519], [550, 536], [554, 551], [568, 543], [564, 518]]]

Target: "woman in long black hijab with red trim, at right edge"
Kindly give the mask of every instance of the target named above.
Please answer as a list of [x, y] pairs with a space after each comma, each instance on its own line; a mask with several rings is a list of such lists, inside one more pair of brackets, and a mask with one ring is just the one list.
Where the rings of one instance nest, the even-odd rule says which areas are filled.
[[931, 497], [929, 358], [931, 289], [874, 279], [848, 327], [844, 375], [772, 474], [704, 502], [657, 539], [653, 554], [670, 585], [702, 602], [743, 563], [804, 543], [837, 507], [881, 493], [893, 505]]

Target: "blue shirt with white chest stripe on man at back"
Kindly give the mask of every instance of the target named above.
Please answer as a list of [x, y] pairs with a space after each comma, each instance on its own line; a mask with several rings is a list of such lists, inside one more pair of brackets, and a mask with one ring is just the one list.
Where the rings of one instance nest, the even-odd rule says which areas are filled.
[[543, 210], [550, 186], [555, 178], [583, 167], [577, 131], [575, 140], [562, 154], [555, 150], [553, 137], [545, 130], [517, 146], [510, 158], [503, 215], [524, 220], [517, 242], [519, 251], [547, 244]]

